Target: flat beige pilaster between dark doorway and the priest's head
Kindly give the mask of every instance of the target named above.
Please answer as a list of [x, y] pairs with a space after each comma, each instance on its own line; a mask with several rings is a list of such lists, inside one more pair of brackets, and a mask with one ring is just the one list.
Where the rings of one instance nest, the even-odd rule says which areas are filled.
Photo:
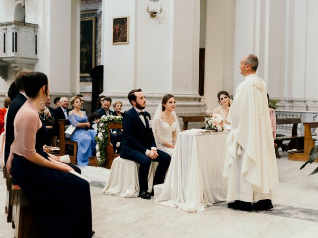
[[234, 94], [233, 77], [239, 71], [233, 61], [234, 30], [235, 1], [207, 0], [204, 96], [209, 113], [219, 106], [219, 91]]

